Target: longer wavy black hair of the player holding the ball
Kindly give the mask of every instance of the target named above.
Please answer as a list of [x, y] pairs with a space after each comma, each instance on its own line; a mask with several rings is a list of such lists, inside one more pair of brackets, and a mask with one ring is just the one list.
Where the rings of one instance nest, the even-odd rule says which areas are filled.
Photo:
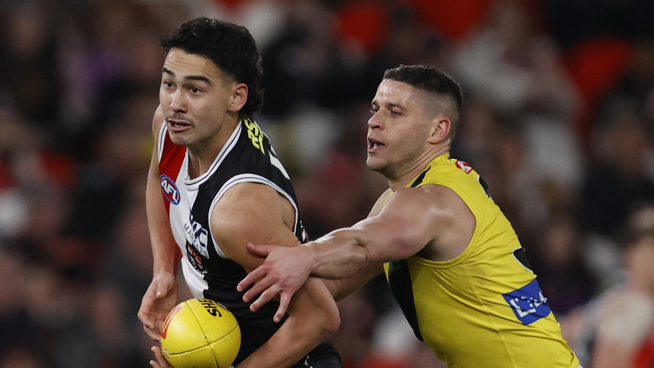
[[248, 86], [248, 97], [241, 115], [253, 117], [264, 103], [260, 88], [261, 57], [247, 28], [206, 17], [184, 22], [169, 37], [161, 37], [166, 52], [181, 48], [190, 54], [209, 58], [222, 71]]

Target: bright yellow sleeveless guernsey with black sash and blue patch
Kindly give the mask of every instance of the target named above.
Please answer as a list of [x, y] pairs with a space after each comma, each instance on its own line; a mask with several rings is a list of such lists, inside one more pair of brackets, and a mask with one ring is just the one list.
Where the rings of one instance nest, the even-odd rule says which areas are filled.
[[391, 291], [418, 339], [449, 368], [577, 368], [515, 231], [479, 174], [449, 153], [407, 187], [443, 185], [477, 221], [451, 261], [415, 255], [384, 265]]

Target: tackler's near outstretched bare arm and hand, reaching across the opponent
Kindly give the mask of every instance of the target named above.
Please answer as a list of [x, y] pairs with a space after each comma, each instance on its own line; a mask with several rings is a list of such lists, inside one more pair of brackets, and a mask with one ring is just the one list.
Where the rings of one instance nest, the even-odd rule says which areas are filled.
[[[441, 193], [434, 187], [401, 189], [385, 205], [387, 195], [383, 195], [368, 219], [295, 248], [249, 245], [250, 251], [267, 258], [239, 283], [239, 289], [245, 289], [256, 282], [244, 299], [250, 300], [263, 292], [252, 303], [253, 308], [260, 308], [272, 295], [292, 295], [309, 274], [329, 279], [348, 278], [366, 267], [417, 253], [453, 218], [451, 212], [441, 209]], [[371, 272], [364, 279], [373, 275]], [[326, 280], [326, 283], [330, 282]], [[339, 285], [336, 284], [336, 289], [331, 286], [332, 294], [343, 295]], [[349, 287], [348, 291], [353, 288]], [[283, 313], [281, 307], [278, 314]]]

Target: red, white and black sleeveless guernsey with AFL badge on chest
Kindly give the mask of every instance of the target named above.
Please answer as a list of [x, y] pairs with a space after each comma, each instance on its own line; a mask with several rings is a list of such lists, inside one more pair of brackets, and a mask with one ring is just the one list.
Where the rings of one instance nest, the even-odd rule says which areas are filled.
[[[279, 303], [271, 301], [257, 312], [244, 303], [236, 285], [247, 272], [220, 250], [211, 234], [209, 219], [216, 202], [233, 185], [254, 182], [269, 185], [295, 208], [294, 232], [306, 240], [298, 202], [284, 166], [256, 122], [242, 119], [205, 174], [188, 177], [186, 147], [175, 145], [162, 124], [158, 141], [162, 193], [173, 236], [182, 253], [182, 271], [194, 297], [209, 298], [230, 310], [241, 328], [241, 350], [234, 365], [264, 344], [282, 322], [273, 322]], [[256, 224], [252, 224], [256, 226]], [[245, 246], [245, 244], [243, 245]], [[286, 317], [284, 317], [285, 320]], [[292, 367], [342, 367], [329, 341], [322, 342]]]

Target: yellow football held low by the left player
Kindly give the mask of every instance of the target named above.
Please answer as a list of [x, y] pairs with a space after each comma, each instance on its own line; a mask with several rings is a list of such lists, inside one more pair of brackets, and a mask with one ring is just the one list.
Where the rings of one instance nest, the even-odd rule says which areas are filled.
[[241, 329], [215, 301], [188, 299], [166, 317], [161, 342], [175, 368], [228, 368], [241, 348]]

